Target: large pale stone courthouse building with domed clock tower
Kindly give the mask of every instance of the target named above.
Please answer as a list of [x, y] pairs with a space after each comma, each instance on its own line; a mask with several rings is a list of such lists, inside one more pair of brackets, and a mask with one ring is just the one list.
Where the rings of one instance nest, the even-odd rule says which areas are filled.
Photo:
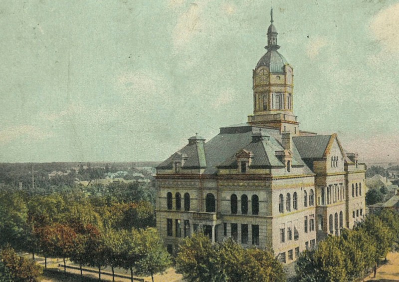
[[247, 123], [207, 142], [193, 136], [157, 167], [157, 228], [170, 252], [202, 229], [213, 242], [271, 247], [288, 263], [364, 217], [366, 166], [336, 134], [299, 129], [293, 69], [279, 47], [272, 18]]

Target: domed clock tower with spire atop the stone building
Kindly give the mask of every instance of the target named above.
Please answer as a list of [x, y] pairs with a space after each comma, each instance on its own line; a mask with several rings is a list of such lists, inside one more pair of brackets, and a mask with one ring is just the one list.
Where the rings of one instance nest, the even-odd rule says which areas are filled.
[[267, 52], [252, 71], [253, 114], [248, 116], [248, 123], [298, 135], [299, 122], [293, 112], [293, 70], [277, 51], [280, 46], [277, 44], [277, 29], [273, 24], [273, 9], [270, 18], [265, 46]]

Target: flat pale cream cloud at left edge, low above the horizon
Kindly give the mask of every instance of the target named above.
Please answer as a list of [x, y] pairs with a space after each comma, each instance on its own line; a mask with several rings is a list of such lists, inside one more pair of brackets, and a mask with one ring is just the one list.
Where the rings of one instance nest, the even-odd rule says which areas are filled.
[[44, 132], [37, 126], [18, 125], [0, 130], [0, 143], [9, 143], [18, 138], [31, 139], [34, 141], [44, 140], [51, 137], [51, 132]]

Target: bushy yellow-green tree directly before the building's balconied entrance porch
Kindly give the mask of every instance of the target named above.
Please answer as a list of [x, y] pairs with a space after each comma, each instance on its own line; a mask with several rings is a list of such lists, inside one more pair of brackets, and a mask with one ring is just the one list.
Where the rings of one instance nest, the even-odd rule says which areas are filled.
[[213, 282], [218, 276], [217, 254], [209, 238], [201, 232], [184, 239], [176, 257], [176, 272], [190, 282]]

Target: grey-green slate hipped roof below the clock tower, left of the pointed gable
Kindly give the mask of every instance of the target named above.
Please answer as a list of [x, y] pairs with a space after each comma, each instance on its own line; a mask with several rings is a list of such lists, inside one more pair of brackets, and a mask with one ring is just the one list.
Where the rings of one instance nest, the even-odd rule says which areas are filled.
[[[256, 134], [255, 134], [256, 133]], [[253, 141], [253, 135], [270, 136], [263, 140]], [[205, 168], [204, 174], [215, 174], [217, 167], [236, 168], [235, 154], [241, 150], [251, 151], [254, 155], [251, 167], [282, 167], [284, 164], [275, 151], [283, 151], [279, 130], [259, 128], [247, 124], [237, 124], [220, 128], [220, 133], [206, 142], [202, 147], [187, 145], [179, 152], [187, 154], [188, 159], [183, 168]], [[299, 155], [293, 143], [292, 166], [303, 166], [305, 173], [311, 173]], [[158, 169], [172, 169], [173, 155], [162, 162]]]

